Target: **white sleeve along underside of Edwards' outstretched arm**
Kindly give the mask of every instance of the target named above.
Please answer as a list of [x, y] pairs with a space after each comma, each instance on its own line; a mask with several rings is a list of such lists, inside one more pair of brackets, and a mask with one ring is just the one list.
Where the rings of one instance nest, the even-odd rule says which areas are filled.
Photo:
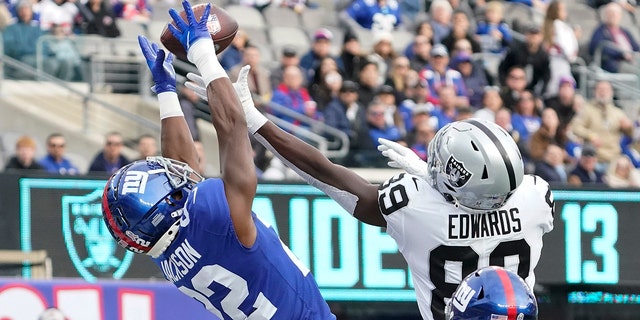
[[255, 133], [254, 136], [265, 148], [269, 151], [273, 152], [273, 154], [282, 161], [287, 167], [291, 168], [291, 170], [295, 171], [304, 181], [306, 181], [310, 186], [318, 188], [320, 191], [324, 192], [327, 196], [337, 202], [340, 206], [342, 206], [347, 212], [353, 215], [353, 212], [356, 209], [356, 203], [358, 202], [358, 197], [354, 194], [351, 194], [347, 191], [340, 190], [334, 186], [330, 186], [314, 177], [309, 175], [308, 173], [302, 171], [300, 168], [293, 165], [287, 159], [285, 159], [276, 149], [259, 133]]

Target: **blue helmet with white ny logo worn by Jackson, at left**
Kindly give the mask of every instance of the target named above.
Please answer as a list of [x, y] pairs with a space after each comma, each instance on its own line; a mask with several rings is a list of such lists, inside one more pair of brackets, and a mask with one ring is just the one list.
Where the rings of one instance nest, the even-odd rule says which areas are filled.
[[175, 238], [187, 196], [202, 180], [184, 162], [163, 157], [135, 161], [107, 181], [104, 222], [121, 246], [156, 258]]

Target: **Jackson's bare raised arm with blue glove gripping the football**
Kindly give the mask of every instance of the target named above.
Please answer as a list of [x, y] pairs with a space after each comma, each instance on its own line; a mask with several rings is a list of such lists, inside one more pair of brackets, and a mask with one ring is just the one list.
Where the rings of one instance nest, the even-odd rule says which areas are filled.
[[222, 180], [231, 220], [240, 242], [245, 246], [252, 246], [256, 239], [256, 227], [251, 215], [251, 205], [257, 178], [242, 107], [227, 73], [218, 62], [207, 29], [211, 5], [207, 5], [199, 19], [194, 16], [187, 0], [183, 0], [182, 6], [187, 22], [171, 9], [169, 14], [176, 26], [170, 24], [169, 30], [185, 47], [189, 61], [202, 73], [211, 121], [218, 136]]

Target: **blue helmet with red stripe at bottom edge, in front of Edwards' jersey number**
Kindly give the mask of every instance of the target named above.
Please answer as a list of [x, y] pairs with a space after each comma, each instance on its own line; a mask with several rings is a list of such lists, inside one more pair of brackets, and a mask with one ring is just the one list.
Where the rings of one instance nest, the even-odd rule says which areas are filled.
[[486, 267], [468, 275], [445, 308], [447, 320], [535, 320], [538, 304], [516, 273]]

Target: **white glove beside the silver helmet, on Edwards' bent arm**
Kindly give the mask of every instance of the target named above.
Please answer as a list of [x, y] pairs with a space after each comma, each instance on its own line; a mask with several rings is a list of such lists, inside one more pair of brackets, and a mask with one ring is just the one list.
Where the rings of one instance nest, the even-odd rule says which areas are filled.
[[378, 142], [378, 150], [389, 159], [387, 164], [390, 167], [404, 169], [407, 173], [427, 178], [429, 167], [413, 150], [384, 138], [379, 138]]

